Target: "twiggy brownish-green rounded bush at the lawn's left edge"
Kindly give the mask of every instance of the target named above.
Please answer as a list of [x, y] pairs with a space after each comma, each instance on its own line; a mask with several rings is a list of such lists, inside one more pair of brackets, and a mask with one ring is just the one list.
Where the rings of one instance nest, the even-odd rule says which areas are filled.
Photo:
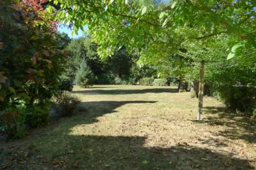
[[70, 92], [64, 91], [54, 97], [54, 102], [56, 102], [58, 111], [62, 116], [69, 116], [74, 113], [74, 110], [81, 101], [79, 98], [72, 96]]

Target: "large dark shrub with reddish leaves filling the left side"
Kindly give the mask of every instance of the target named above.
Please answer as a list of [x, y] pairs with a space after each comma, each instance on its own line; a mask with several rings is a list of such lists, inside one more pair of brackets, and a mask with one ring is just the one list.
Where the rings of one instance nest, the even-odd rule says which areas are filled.
[[63, 48], [56, 42], [51, 16], [33, 7], [0, 2], [0, 110], [19, 100], [28, 107], [47, 105], [60, 85]]

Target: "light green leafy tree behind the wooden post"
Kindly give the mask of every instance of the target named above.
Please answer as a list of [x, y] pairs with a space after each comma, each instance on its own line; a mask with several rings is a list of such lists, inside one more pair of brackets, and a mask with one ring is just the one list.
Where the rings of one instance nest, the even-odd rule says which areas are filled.
[[184, 42], [175, 54], [169, 57], [166, 54], [166, 58], [156, 65], [163, 76], [182, 77], [184, 81], [196, 82], [199, 79], [200, 61], [205, 61], [205, 83], [209, 85], [212, 95], [234, 110], [252, 112], [256, 105], [256, 82], [253, 78], [256, 68], [251, 56], [246, 54], [253, 49], [242, 48], [241, 56], [228, 61], [227, 48], [236, 41], [237, 38], [218, 35], [208, 41]]

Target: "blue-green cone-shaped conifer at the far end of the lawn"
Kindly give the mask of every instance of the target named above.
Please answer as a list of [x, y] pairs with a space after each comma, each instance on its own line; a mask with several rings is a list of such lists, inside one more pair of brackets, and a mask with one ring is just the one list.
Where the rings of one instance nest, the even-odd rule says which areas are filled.
[[88, 88], [93, 85], [94, 75], [90, 67], [86, 63], [81, 63], [79, 70], [76, 73], [76, 84]]

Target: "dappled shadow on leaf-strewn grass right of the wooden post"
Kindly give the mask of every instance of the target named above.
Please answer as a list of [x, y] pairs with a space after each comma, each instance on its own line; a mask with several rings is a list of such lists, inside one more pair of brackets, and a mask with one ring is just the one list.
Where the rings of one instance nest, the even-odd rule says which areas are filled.
[[201, 123], [211, 126], [225, 126], [225, 130], [215, 132], [228, 139], [243, 139], [249, 143], [256, 143], [256, 120], [250, 114], [237, 114], [227, 107], [205, 107], [204, 114], [207, 115]]

